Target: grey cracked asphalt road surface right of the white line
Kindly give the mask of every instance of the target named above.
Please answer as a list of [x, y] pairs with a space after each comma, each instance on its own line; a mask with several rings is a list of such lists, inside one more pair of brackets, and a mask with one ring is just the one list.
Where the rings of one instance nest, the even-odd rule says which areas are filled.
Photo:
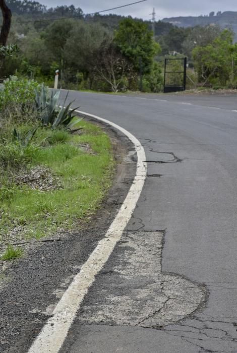
[[[61, 353], [237, 352], [237, 97], [70, 92], [69, 99], [135, 135], [148, 177], [124, 244], [97, 276]], [[136, 250], [146, 232], [150, 241]], [[155, 239], [161, 252], [152, 252]]]

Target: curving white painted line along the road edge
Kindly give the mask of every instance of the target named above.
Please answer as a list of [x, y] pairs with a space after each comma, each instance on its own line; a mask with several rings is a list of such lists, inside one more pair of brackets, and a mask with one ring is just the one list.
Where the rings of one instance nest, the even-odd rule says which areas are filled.
[[74, 277], [69, 288], [55, 307], [52, 317], [48, 319], [42, 331], [30, 347], [29, 353], [56, 353], [60, 350], [76, 313], [88, 289], [95, 280], [96, 274], [102, 269], [116, 243], [121, 239], [123, 231], [135, 210], [146, 179], [147, 165], [145, 162], [145, 151], [135, 136], [120, 126], [102, 119], [99, 116], [83, 111], [77, 112], [109, 124], [124, 133], [135, 146], [138, 159], [137, 170], [128, 195], [120, 211], [118, 211], [112, 224], [108, 228], [105, 237], [98, 243], [86, 263], [82, 266], [81, 271]]

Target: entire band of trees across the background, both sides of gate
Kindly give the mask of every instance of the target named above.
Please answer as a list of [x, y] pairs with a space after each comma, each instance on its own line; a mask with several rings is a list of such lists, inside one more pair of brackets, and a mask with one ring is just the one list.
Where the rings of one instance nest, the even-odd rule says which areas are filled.
[[131, 17], [89, 16], [74, 6], [47, 9], [28, 0], [8, 4], [9, 43], [19, 52], [6, 57], [2, 78], [27, 76], [51, 86], [60, 70], [64, 88], [159, 92], [164, 57], [187, 56], [190, 87], [237, 86], [237, 47], [229, 29], [158, 21], [153, 33], [151, 22]]

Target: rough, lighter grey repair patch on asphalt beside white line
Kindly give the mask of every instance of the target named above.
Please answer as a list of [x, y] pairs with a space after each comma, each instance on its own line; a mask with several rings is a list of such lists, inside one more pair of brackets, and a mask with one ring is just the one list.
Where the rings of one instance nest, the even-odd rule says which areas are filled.
[[78, 314], [79, 324], [161, 328], [203, 305], [204, 286], [162, 273], [163, 238], [162, 231], [124, 232], [90, 289]]

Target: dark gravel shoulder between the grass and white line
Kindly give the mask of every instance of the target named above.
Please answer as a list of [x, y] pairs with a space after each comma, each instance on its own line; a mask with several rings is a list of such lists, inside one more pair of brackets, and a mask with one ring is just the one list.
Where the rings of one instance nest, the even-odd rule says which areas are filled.
[[[91, 119], [89, 119], [91, 120]], [[120, 209], [136, 172], [135, 150], [122, 133], [103, 127], [112, 141], [117, 172], [102, 208], [85, 229], [60, 241], [40, 244], [30, 257], [13, 264], [1, 299], [2, 351], [26, 351], [51, 316], [73, 277], [88, 259]]]

